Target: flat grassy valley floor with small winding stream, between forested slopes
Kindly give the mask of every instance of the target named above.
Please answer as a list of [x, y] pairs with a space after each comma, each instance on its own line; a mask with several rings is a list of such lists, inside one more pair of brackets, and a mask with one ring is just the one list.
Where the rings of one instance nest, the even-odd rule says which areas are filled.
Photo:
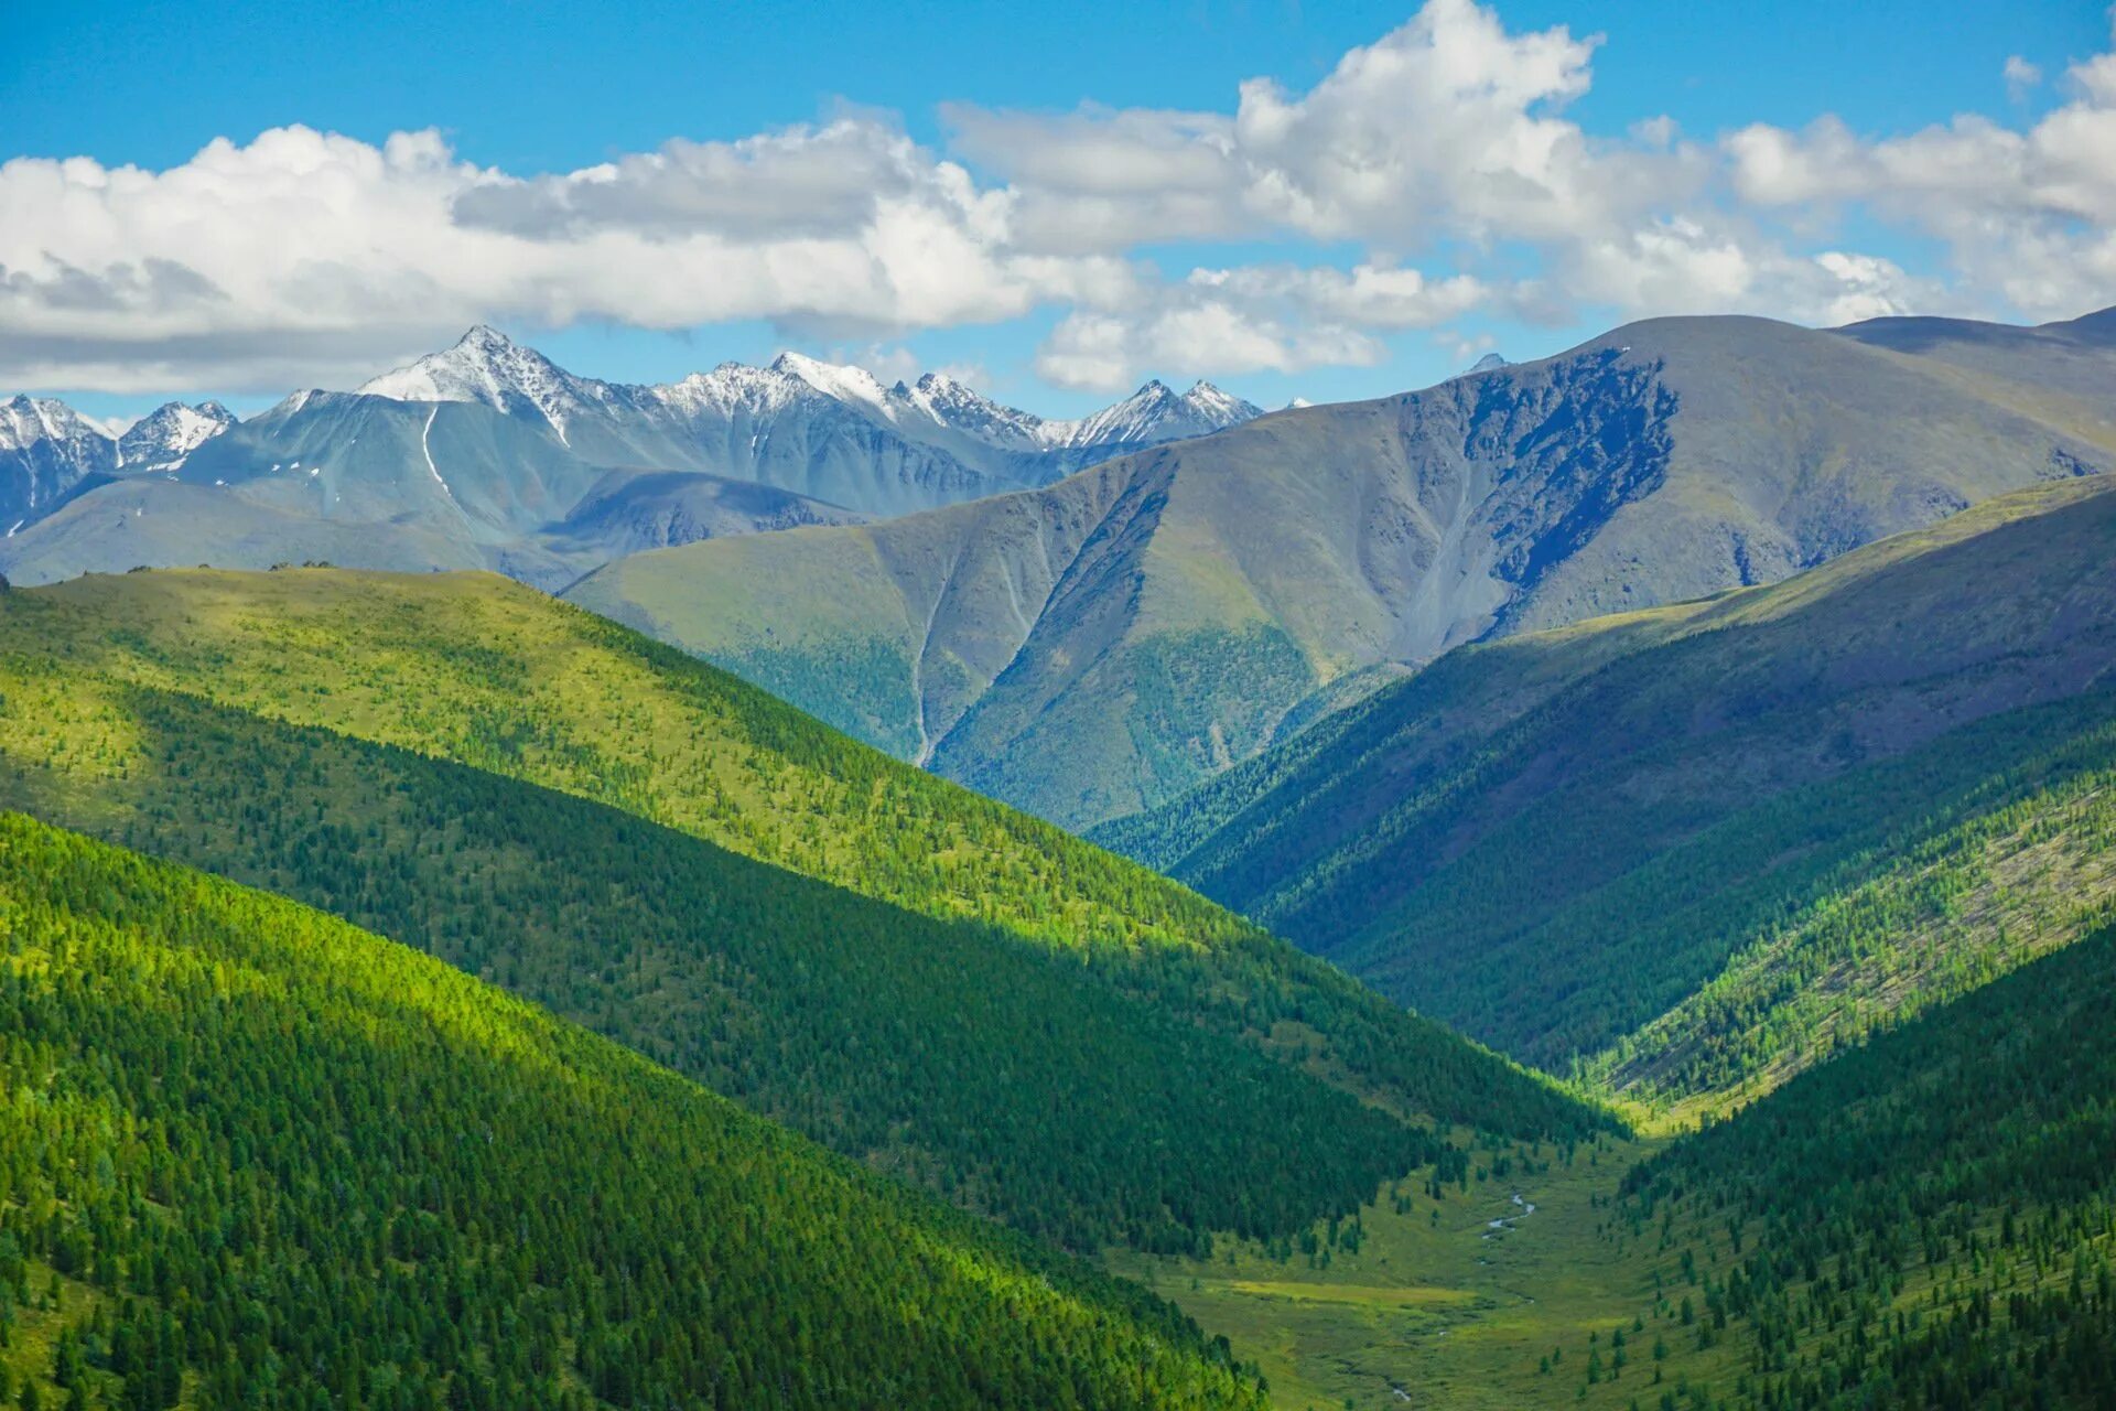
[[[1405, 1199], [1384, 1191], [1358, 1216], [1358, 1248], [1339, 1240], [1327, 1261], [1223, 1242], [1210, 1261], [1113, 1252], [1107, 1263], [1225, 1335], [1284, 1411], [1623, 1409], [1667, 1394], [1691, 1407], [1695, 1392], [1731, 1390], [1748, 1352], [1741, 1339], [1699, 1350], [1699, 1324], [1682, 1322], [1686, 1286], [1667, 1280], [1674, 1259], [1653, 1231], [1612, 1233], [1623, 1174], [1661, 1147], [1604, 1138], [1570, 1166], [1549, 1147], [1528, 1159], [1479, 1153], [1466, 1191], [1433, 1199], [1411, 1180]], [[1612, 1371], [1619, 1328], [1625, 1358]]]

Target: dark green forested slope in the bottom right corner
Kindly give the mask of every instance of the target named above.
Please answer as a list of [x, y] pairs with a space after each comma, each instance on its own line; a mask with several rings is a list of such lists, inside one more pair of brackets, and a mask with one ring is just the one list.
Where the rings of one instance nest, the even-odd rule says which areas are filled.
[[1629, 1174], [1634, 1238], [1752, 1341], [1729, 1405], [2116, 1403], [2112, 1001], [2101, 931]]

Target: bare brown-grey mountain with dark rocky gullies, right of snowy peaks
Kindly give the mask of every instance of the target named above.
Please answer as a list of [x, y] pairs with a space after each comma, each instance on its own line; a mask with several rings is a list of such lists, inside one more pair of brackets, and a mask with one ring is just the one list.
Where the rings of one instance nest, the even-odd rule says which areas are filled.
[[2108, 319], [1995, 330], [1989, 368], [1892, 328], [1634, 324], [1026, 495], [622, 558], [569, 597], [1086, 827], [1460, 643], [1775, 582], [2116, 465]]

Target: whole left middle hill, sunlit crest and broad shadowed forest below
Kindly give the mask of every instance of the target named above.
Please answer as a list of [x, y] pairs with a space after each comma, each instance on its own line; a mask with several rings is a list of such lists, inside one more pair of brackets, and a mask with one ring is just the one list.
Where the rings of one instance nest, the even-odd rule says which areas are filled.
[[[229, 607], [241, 590], [254, 613]], [[404, 599], [417, 616], [396, 620], [396, 637], [377, 633]], [[237, 645], [216, 658], [201, 635], [184, 637], [203, 620], [201, 601], [290, 649], [271, 654], [239, 628], [218, 637]], [[326, 609], [336, 613], [328, 633], [317, 622]], [[497, 692], [472, 696], [489, 679], [516, 679], [499, 654], [506, 637], [461, 626], [478, 611], [480, 622], [516, 613], [516, 641], [546, 652], [540, 679], [571, 671], [576, 694], [504, 698], [533, 723], [497, 715]], [[846, 1155], [1073, 1248], [1196, 1248], [1208, 1231], [1265, 1238], [1342, 1214], [1384, 1180], [1454, 1159], [1430, 1119], [1524, 1136], [1606, 1125], [1168, 882], [880, 759], [694, 662], [671, 658], [660, 671], [647, 643], [497, 580], [125, 575], [8, 594], [0, 635], [0, 804], [427, 950]], [[309, 658], [309, 641], [370, 645], [385, 666], [336, 671], [328, 690], [305, 690], [300, 673], [347, 660]], [[774, 819], [806, 825], [800, 806], [821, 806], [825, 789], [859, 770], [876, 793], [899, 791], [882, 800], [876, 827], [904, 819], [914, 838], [950, 827], [990, 848], [984, 899], [995, 908], [1026, 867], [1007, 861], [1007, 833], [971, 831], [980, 819], [1050, 838], [1052, 853], [1030, 861], [1069, 869], [1071, 905], [1128, 920], [1126, 891], [1092, 891], [1113, 878], [1138, 888], [1141, 914], [1160, 903], [1164, 916], [1204, 922], [1200, 939], [1168, 922], [1141, 939], [1105, 931], [1075, 941], [1054, 929], [1030, 935], [1024, 912], [1011, 914], [1014, 929], [929, 916], [508, 772], [129, 683], [233, 685], [224, 694], [241, 700], [262, 696], [256, 671], [311, 717], [387, 734], [389, 717], [362, 709], [375, 700], [406, 709], [427, 740], [459, 738], [453, 713], [463, 711], [485, 728], [472, 745], [497, 743], [472, 757], [501, 770], [616, 778], [618, 798], [647, 808], [696, 800], [696, 776], [656, 764], [673, 751], [639, 749], [656, 736], [599, 728], [592, 755], [576, 747], [590, 732], [573, 700], [597, 700], [582, 677], [601, 683], [599, 673], [620, 668], [633, 673], [633, 700], [690, 692], [679, 696], [694, 711], [688, 734], [658, 736], [696, 749], [686, 759], [711, 759], [732, 778], [777, 766], [732, 814], [747, 831], [724, 836], [770, 842], [762, 825]], [[421, 685], [396, 696], [372, 685], [396, 673]], [[728, 707], [749, 715], [730, 721]], [[531, 749], [499, 753], [525, 736]], [[633, 749], [643, 764], [626, 770]], [[802, 842], [796, 833], [785, 850], [834, 861], [800, 853]], [[829, 844], [859, 857], [897, 840], [844, 829]], [[935, 874], [971, 884], [940, 867], [920, 874], [916, 855], [882, 857], [904, 893], [942, 910], [948, 897], [912, 884]]]

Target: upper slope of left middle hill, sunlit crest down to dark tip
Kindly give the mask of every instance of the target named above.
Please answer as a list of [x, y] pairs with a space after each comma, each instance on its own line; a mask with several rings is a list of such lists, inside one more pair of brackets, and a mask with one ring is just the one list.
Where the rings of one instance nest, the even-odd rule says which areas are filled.
[[78, 580], [0, 601], [0, 660], [17, 677], [0, 745], [80, 717], [80, 740], [25, 738], [25, 757], [123, 772], [138, 721], [102, 685], [197, 694], [605, 802], [908, 910], [1102, 956], [1107, 975], [1172, 948], [1198, 979], [1164, 998], [1405, 1115], [1524, 1134], [1606, 1121], [1136, 863], [504, 580]]

